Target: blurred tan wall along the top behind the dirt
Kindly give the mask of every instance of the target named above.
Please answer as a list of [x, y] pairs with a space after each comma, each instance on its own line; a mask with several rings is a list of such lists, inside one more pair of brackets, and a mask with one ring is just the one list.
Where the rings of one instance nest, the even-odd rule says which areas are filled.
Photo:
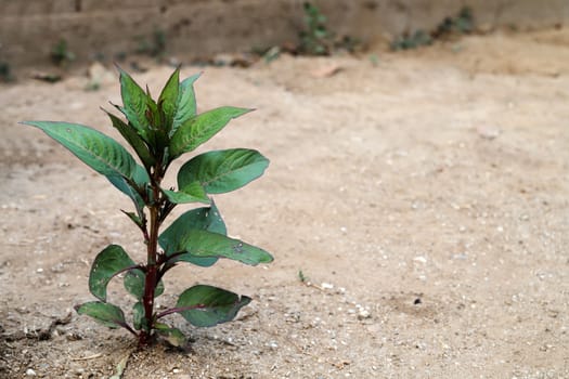
[[[206, 56], [296, 42], [303, 27], [301, 0], [0, 0], [0, 61], [49, 62], [64, 38], [81, 61], [115, 58], [163, 34], [167, 51]], [[464, 5], [484, 28], [558, 26], [569, 0], [314, 0], [328, 27], [364, 41], [417, 28], [431, 29]]]

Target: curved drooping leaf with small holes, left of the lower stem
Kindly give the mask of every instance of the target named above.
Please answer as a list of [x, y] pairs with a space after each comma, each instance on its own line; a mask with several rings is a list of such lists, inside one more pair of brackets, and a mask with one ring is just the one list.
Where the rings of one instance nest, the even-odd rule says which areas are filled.
[[118, 273], [137, 264], [118, 245], [108, 245], [101, 251], [91, 266], [89, 274], [89, 290], [102, 301], [106, 301], [108, 282]]

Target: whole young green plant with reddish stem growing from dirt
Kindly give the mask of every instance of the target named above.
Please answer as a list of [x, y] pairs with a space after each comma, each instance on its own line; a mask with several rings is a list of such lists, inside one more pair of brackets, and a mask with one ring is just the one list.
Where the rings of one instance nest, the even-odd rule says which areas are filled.
[[[164, 292], [165, 274], [180, 263], [208, 267], [227, 258], [249, 265], [273, 260], [267, 251], [227, 235], [225, 224], [209, 195], [241, 188], [259, 178], [269, 160], [257, 151], [231, 148], [194, 156], [178, 172], [178, 190], [166, 188], [163, 179], [176, 159], [194, 151], [228, 122], [251, 109], [230, 106], [196, 114], [194, 75], [182, 82], [176, 69], [157, 101], [120, 70], [122, 106], [126, 117], [107, 113], [115, 127], [135, 152], [139, 162], [109, 136], [76, 123], [26, 121], [41, 129], [80, 160], [103, 174], [132, 200], [133, 211], [122, 211], [142, 233], [146, 246], [145, 263], [137, 263], [122, 247], [109, 245], [93, 261], [89, 290], [98, 299], [76, 306], [79, 314], [109, 327], [122, 327], [138, 338], [141, 348], [157, 336], [182, 347], [182, 331], [164, 322], [178, 313], [196, 327], [225, 323], [250, 302], [231, 291], [196, 285], [184, 290], [171, 308], [157, 312], [155, 298]], [[106, 110], [105, 110], [106, 112]], [[180, 215], [165, 231], [170, 212], [182, 204], [203, 204]], [[134, 297], [132, 322], [107, 299], [107, 285], [124, 274], [126, 290]]]

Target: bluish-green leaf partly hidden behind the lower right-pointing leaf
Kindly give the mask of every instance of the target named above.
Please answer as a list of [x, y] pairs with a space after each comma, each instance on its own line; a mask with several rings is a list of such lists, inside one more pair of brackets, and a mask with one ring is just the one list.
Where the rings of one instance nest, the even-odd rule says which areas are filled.
[[[227, 235], [225, 223], [216, 204], [211, 201], [211, 207], [192, 209], [182, 215], [180, 215], [166, 231], [164, 231], [158, 243], [164, 249], [167, 256], [171, 256], [174, 252], [182, 251], [183, 248], [180, 246], [180, 240], [185, 239], [184, 236], [192, 230], [209, 231], [212, 233], [219, 233]], [[208, 267], [216, 263], [217, 257], [191, 257], [185, 254], [185, 262], [196, 264], [198, 266]], [[171, 263], [176, 262], [176, 258]]]

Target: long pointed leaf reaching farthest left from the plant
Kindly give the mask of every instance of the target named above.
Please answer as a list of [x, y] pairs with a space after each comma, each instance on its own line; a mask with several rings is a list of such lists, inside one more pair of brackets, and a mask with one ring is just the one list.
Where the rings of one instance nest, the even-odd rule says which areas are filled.
[[77, 158], [105, 177], [132, 179], [137, 166], [134, 158], [112, 138], [76, 123], [51, 121], [25, 121], [39, 128], [68, 148]]

